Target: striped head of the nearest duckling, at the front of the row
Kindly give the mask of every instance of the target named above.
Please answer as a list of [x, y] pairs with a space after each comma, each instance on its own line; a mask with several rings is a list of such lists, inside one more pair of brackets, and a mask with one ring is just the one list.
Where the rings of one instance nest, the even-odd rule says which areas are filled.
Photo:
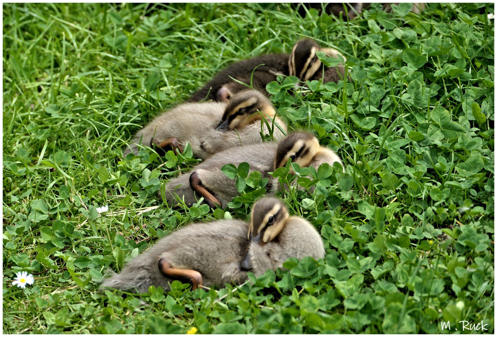
[[248, 240], [260, 245], [274, 240], [285, 227], [288, 217], [283, 200], [273, 197], [259, 199], [252, 206]]

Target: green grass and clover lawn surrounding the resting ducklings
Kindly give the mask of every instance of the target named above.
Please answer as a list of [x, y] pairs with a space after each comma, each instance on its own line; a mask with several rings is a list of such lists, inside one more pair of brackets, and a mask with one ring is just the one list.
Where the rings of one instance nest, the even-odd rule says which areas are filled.
[[[343, 22], [287, 4], [3, 4], [3, 332], [440, 333], [466, 320], [493, 333], [494, 5], [379, 7]], [[284, 195], [326, 258], [239, 288], [151, 288], [145, 303], [98, 292], [105, 268], [225, 216], [164, 204], [161, 184], [192, 163], [123, 158], [126, 142], [231, 62], [303, 37], [351, 69], [346, 85], [295, 95], [291, 78], [268, 85], [289, 128], [346, 165], [304, 170], [315, 191]], [[119, 213], [98, 217], [102, 204]], [[35, 284], [12, 287], [20, 270]]]

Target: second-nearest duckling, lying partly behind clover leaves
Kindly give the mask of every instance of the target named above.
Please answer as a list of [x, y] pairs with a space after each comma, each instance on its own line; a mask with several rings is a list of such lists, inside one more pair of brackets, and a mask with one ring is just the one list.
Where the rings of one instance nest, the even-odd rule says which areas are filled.
[[233, 164], [238, 167], [240, 163], [247, 162], [250, 171], [257, 170], [262, 178], [269, 178], [269, 192], [274, 192], [279, 189], [278, 182], [267, 172], [285, 166], [290, 158], [300, 167], [311, 165], [317, 169], [323, 163], [332, 166], [334, 162], [343, 167], [340, 158], [330, 149], [320, 146], [313, 134], [293, 132], [278, 144], [252, 144], [219, 152], [198, 164], [190, 176], [183, 174], [170, 179], [162, 196], [168, 204], [172, 204], [176, 200], [176, 194], [188, 206], [202, 196], [210, 207], [214, 208], [218, 204], [225, 208], [239, 192], [235, 181], [221, 171], [224, 165]]

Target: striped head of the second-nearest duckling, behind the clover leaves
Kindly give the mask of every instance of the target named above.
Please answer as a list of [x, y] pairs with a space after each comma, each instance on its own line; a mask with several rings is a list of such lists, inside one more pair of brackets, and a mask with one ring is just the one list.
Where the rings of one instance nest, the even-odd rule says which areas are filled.
[[[313, 158], [320, 152], [319, 141], [310, 132], [293, 132], [278, 144], [274, 156], [274, 169], [284, 167], [289, 159], [301, 168], [309, 166]], [[293, 173], [293, 169], [291, 170]]]

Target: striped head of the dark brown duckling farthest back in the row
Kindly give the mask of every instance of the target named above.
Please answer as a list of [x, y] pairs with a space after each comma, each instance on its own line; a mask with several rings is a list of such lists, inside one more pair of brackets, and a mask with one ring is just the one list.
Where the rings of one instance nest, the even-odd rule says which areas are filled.
[[309, 80], [321, 67], [321, 61], [316, 55], [321, 48], [312, 39], [297, 41], [288, 58], [290, 76], [297, 76], [301, 81]]

